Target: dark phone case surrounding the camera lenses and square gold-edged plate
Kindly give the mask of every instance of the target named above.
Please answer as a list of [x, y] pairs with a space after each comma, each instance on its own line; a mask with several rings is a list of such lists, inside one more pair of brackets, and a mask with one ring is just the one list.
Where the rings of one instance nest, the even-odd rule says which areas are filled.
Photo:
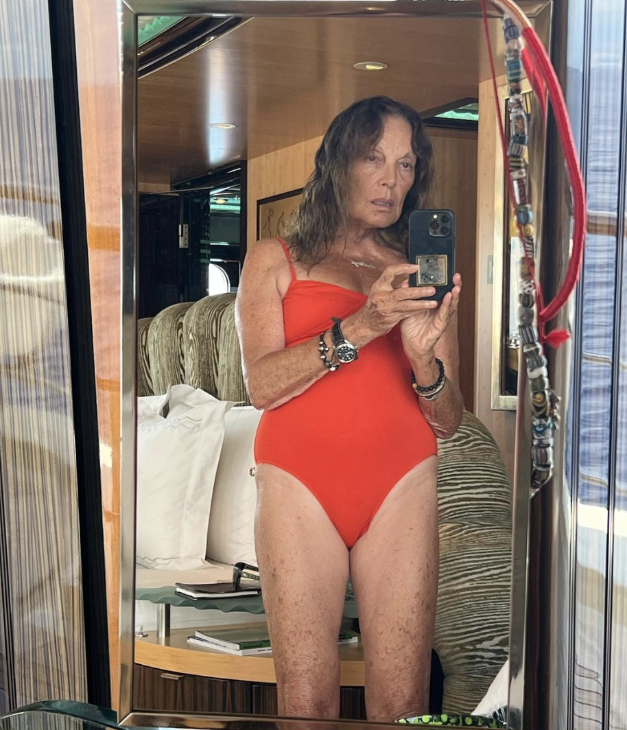
[[[434, 213], [450, 215], [450, 233], [446, 236], [432, 236], [429, 231], [429, 221]], [[445, 293], [453, 289], [453, 274], [455, 274], [455, 214], [452, 210], [439, 208], [437, 210], [415, 210], [409, 215], [409, 264], [417, 263], [418, 257], [422, 261], [429, 258], [446, 256], [446, 280], [443, 285], [436, 285], [436, 293], [426, 296], [425, 299], [442, 301]], [[409, 286], [418, 286], [417, 274], [409, 274]], [[428, 286], [428, 283], [422, 283]]]

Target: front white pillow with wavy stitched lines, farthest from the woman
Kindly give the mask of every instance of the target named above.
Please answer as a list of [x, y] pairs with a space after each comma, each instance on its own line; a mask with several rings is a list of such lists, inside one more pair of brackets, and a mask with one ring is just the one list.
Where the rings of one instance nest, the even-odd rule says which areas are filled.
[[224, 415], [233, 403], [191, 385], [138, 401], [136, 561], [146, 568], [206, 567]]

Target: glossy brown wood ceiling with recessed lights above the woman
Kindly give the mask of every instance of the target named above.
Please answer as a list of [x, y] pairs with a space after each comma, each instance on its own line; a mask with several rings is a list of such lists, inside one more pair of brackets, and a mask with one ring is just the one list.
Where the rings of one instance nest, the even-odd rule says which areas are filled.
[[[491, 31], [502, 53], [498, 20]], [[478, 19], [253, 18], [139, 80], [139, 179], [180, 180], [311, 139], [366, 96], [418, 110], [477, 96], [484, 47]]]

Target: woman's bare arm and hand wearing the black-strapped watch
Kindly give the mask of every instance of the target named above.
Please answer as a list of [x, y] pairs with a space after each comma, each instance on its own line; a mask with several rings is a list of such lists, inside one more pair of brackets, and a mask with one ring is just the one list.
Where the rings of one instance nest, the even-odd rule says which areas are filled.
[[[285, 347], [277, 277], [285, 275], [287, 268], [280, 244], [266, 239], [247, 253], [239, 280], [236, 328], [246, 388], [250, 402], [258, 410], [270, 410], [286, 403], [328, 374], [318, 353], [318, 337]], [[395, 277], [404, 274], [407, 278], [415, 269], [411, 264], [388, 266], [372, 285], [366, 304], [342, 321], [345, 337], [363, 347], [407, 315], [430, 307], [424, 301], [413, 301], [407, 288], [393, 288]], [[414, 297], [416, 293], [414, 290]], [[423, 289], [420, 296], [426, 295], [428, 291]], [[333, 351], [330, 331], [325, 334], [325, 342], [330, 356]]]

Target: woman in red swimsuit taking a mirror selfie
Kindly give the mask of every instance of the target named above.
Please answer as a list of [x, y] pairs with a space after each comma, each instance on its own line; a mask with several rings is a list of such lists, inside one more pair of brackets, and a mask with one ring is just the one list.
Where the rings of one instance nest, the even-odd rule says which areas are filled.
[[339, 712], [347, 578], [368, 718], [428, 710], [438, 580], [436, 436], [461, 421], [456, 315], [409, 287], [407, 220], [431, 144], [385, 96], [338, 115], [288, 241], [250, 250], [236, 318], [255, 439], [255, 543], [280, 715]]

